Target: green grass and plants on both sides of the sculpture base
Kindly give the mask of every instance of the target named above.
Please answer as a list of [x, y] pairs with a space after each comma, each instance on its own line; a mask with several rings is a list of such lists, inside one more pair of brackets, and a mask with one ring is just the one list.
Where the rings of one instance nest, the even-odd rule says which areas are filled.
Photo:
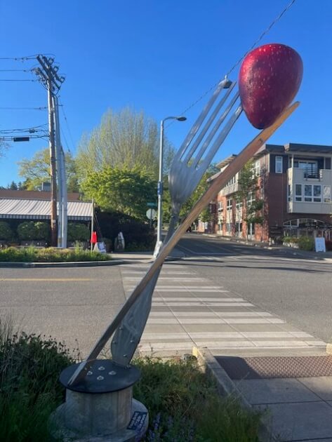
[[[51, 413], [65, 400], [58, 381], [79, 360], [51, 337], [14, 333], [0, 316], [0, 441], [51, 442]], [[142, 377], [133, 396], [145, 404], [150, 425], [145, 442], [257, 442], [260, 413], [219, 396], [196, 359], [134, 361]]]

